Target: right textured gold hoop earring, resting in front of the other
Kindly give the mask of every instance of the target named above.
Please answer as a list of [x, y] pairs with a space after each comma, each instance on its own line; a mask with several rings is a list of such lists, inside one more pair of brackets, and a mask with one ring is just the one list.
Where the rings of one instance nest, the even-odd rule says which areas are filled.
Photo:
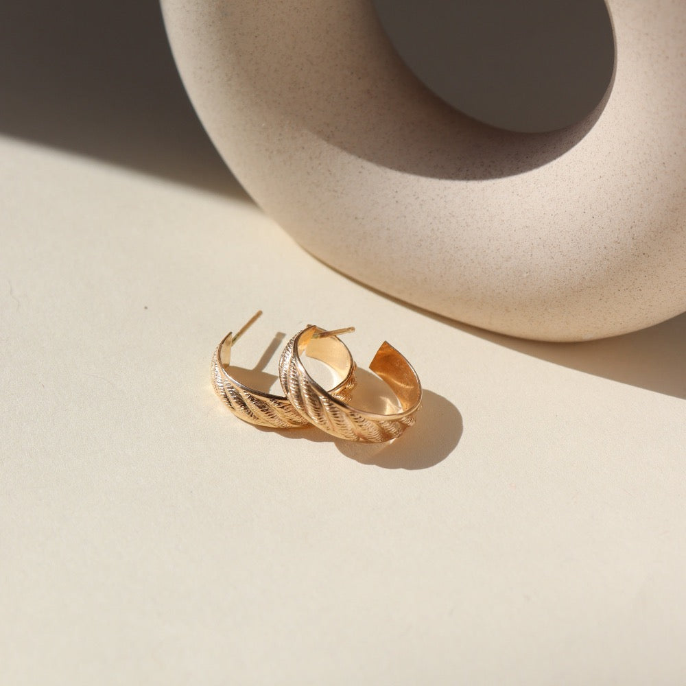
[[333, 397], [309, 375], [300, 355], [320, 329], [307, 327], [283, 348], [279, 360], [281, 388], [300, 414], [327, 434], [364, 442], [397, 438], [414, 424], [422, 401], [422, 387], [410, 362], [388, 342], [383, 342], [369, 368], [388, 383], [401, 404], [401, 412], [377, 414], [356, 410], [348, 399]]

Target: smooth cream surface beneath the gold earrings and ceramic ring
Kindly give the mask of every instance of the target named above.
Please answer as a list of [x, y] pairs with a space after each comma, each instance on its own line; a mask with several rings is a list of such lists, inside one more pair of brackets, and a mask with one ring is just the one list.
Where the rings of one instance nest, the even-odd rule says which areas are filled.
[[[485, 335], [332, 272], [227, 179], [7, 138], [0, 174], [0, 683], [683, 683], [684, 316]], [[416, 426], [231, 416], [210, 357], [257, 307], [235, 364], [355, 324], [361, 366], [384, 338], [415, 364]]]

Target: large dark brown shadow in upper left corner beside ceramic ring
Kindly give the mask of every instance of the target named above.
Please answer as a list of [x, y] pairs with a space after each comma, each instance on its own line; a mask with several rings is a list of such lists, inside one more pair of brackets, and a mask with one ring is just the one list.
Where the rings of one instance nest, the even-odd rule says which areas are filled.
[[0, 3], [0, 134], [245, 198], [181, 84], [154, 1]]

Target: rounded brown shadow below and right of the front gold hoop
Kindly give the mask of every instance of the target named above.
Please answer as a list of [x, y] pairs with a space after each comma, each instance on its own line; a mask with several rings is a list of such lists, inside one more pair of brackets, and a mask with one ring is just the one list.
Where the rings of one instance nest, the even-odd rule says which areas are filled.
[[453, 403], [428, 390], [413, 427], [389, 443], [335, 439], [338, 450], [361, 464], [383, 469], [427, 469], [445, 460], [462, 438], [462, 415]]

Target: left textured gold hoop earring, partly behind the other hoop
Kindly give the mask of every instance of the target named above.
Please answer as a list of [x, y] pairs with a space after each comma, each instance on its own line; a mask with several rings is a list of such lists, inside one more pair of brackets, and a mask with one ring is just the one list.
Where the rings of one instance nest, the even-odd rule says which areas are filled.
[[[262, 314], [258, 311], [235, 335], [227, 333], [212, 356], [212, 385], [228, 409], [238, 418], [263, 427], [274, 429], [297, 429], [309, 425], [307, 418], [296, 411], [287, 398], [272, 393], [248, 388], [234, 379], [228, 372], [231, 347]], [[342, 381], [329, 393], [336, 397], [349, 398], [355, 388], [355, 362], [345, 344], [335, 337], [336, 331], [322, 331], [307, 351], [308, 357], [325, 362]]]

